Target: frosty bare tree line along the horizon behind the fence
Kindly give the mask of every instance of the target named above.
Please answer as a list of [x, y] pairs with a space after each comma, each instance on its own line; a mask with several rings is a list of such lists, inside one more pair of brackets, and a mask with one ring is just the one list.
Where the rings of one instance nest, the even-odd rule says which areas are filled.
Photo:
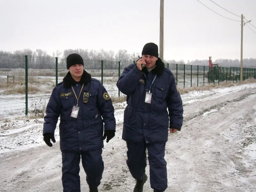
[[[120, 61], [121, 68], [125, 68], [129, 64], [133, 63], [138, 59], [140, 53], [133, 52], [128, 53], [125, 49], [120, 49], [118, 52], [112, 50], [106, 51], [104, 49], [88, 50], [88, 49], [66, 49], [63, 52], [57, 50], [49, 55], [42, 49], [36, 49], [32, 51], [30, 49], [17, 50], [14, 52], [0, 51], [0, 68], [24, 68], [25, 58], [24, 55], [28, 55], [28, 66], [29, 68], [38, 69], [54, 69], [55, 68], [55, 57], [58, 57], [59, 68], [66, 68], [66, 58], [71, 53], [80, 54], [85, 63], [85, 67], [88, 69], [100, 69], [101, 61], [104, 60], [105, 69], [118, 69], [118, 61]], [[208, 66], [208, 60], [192, 60], [185, 63], [184, 60], [164, 60], [164, 63], [170, 65], [200, 65]], [[240, 67], [240, 60], [231, 59], [217, 59], [213, 63], [218, 63], [221, 67]], [[256, 59], [244, 59], [244, 68], [256, 68]]]

